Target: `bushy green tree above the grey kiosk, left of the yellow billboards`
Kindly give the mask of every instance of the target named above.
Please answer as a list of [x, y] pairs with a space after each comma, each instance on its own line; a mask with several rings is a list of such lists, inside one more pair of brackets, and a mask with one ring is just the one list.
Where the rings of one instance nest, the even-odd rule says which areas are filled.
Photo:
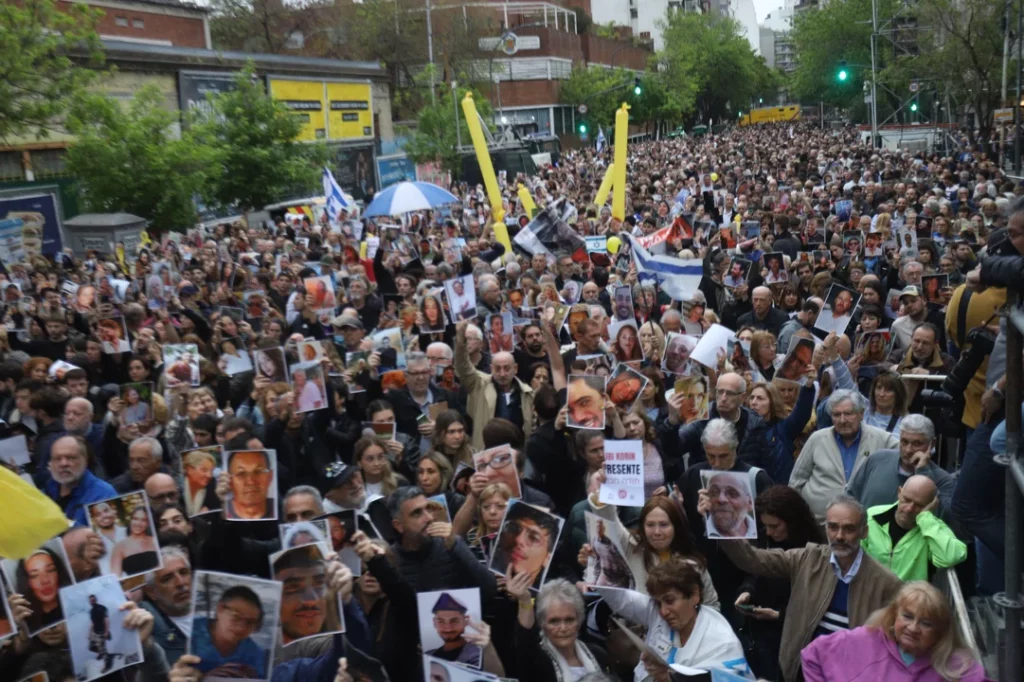
[[89, 210], [134, 213], [158, 231], [196, 224], [193, 200], [215, 179], [216, 159], [187, 131], [176, 136], [177, 112], [164, 104], [160, 89], [146, 86], [126, 105], [93, 94], [71, 108], [68, 169]]

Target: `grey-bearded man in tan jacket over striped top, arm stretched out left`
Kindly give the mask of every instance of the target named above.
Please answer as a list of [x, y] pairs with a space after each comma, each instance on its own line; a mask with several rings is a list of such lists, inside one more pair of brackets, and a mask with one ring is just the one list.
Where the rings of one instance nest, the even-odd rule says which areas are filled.
[[800, 651], [812, 639], [859, 628], [902, 586], [861, 548], [860, 541], [867, 537], [867, 512], [859, 502], [837, 497], [828, 504], [825, 519], [828, 545], [759, 550], [745, 541], [719, 542], [740, 570], [790, 579], [778, 663], [784, 679], [794, 682], [803, 679]]

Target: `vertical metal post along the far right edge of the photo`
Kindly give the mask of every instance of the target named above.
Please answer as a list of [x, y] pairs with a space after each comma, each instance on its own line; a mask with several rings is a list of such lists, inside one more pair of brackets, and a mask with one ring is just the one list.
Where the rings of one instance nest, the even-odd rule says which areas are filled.
[[1006, 613], [1006, 648], [1000, 680], [1021, 680], [1021, 614], [1024, 601], [1021, 595], [1021, 567], [1024, 565], [1024, 548], [1021, 547], [1021, 514], [1024, 513], [1024, 461], [1021, 460], [1021, 411], [1024, 403], [1024, 309], [1021, 308], [1021, 290], [1007, 291], [1010, 324], [1007, 325], [1007, 453], [993, 460], [1007, 467], [1006, 480], [1006, 537], [1005, 591], [993, 601]]

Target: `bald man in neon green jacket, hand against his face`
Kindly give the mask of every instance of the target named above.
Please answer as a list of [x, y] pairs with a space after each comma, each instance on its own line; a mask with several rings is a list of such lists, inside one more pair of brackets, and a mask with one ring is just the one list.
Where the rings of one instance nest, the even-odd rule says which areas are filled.
[[967, 545], [934, 514], [938, 488], [931, 478], [910, 476], [894, 505], [867, 510], [864, 551], [903, 581], [931, 579], [932, 566], [946, 568], [967, 558]]

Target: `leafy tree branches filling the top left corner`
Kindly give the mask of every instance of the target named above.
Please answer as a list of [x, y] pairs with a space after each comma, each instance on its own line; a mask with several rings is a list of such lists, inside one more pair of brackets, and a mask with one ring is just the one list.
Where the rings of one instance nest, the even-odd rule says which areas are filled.
[[[102, 62], [100, 12], [55, 0], [0, 2], [0, 140], [46, 137]], [[69, 54], [78, 51], [84, 63]]]

